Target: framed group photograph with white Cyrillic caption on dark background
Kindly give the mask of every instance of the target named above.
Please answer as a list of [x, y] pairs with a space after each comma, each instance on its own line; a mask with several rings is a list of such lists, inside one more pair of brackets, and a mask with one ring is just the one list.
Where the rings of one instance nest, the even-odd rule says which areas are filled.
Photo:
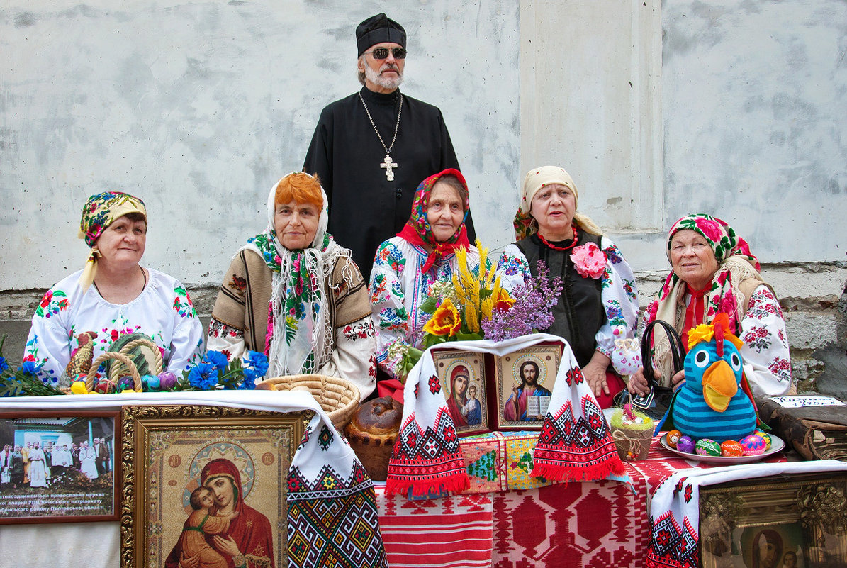
[[119, 412], [0, 412], [0, 524], [118, 519]]

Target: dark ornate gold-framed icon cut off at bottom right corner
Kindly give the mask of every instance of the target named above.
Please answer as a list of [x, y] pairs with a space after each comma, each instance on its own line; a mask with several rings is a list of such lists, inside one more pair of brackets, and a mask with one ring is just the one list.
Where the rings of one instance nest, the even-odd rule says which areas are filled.
[[703, 568], [847, 565], [847, 473], [700, 488]]

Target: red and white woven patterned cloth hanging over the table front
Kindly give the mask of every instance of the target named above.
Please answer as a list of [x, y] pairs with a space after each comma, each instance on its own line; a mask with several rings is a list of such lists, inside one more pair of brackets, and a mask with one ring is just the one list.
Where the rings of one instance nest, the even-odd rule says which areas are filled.
[[[765, 463], [784, 461], [775, 454]], [[388, 496], [385, 487], [376, 487], [389, 565], [642, 568], [650, 547], [650, 494], [677, 471], [723, 468], [672, 454], [658, 437], [647, 459], [624, 465], [631, 485], [601, 480], [523, 491], [492, 487], [494, 493], [430, 500]]]

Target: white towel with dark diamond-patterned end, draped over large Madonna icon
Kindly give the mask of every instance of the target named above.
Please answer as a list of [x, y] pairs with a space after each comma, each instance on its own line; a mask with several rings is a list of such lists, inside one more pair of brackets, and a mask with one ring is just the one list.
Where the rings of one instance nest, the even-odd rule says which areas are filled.
[[[3, 409], [15, 411], [120, 409], [122, 406], [157, 404], [228, 406], [274, 412], [313, 410], [315, 414], [291, 460], [288, 474], [288, 565], [303, 568], [328, 565], [387, 568], [374, 484], [352, 448], [344, 443], [329, 416], [309, 393], [203, 391], [3, 399]], [[40, 541], [39, 545], [52, 547], [55, 543], [57, 558], [64, 554], [62, 550], [67, 548], [66, 543], [79, 538], [74, 532], [60, 532], [53, 536], [55, 538], [43, 543]], [[119, 537], [118, 531], [106, 532], [96, 539], [95, 546], [97, 550], [119, 551]], [[119, 559], [115, 557], [94, 564], [118, 565]]]

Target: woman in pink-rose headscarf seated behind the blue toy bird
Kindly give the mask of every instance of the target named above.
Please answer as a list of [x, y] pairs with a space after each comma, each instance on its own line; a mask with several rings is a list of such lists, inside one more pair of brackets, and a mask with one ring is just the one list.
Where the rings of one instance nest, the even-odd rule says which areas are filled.
[[[645, 311], [645, 324], [664, 320], [676, 327], [688, 347], [692, 327], [729, 316], [730, 331], [744, 345], [745, 376], [756, 395], [778, 395], [791, 387], [789, 343], [782, 309], [772, 288], [762, 281], [759, 261], [731, 226], [706, 214], [689, 214], [667, 232], [667, 259], [673, 270], [658, 298]], [[684, 371], [673, 375], [667, 338], [655, 336], [656, 379], [677, 385]], [[673, 375], [673, 376], [672, 376]], [[643, 369], [629, 381], [630, 390], [646, 393]]]

